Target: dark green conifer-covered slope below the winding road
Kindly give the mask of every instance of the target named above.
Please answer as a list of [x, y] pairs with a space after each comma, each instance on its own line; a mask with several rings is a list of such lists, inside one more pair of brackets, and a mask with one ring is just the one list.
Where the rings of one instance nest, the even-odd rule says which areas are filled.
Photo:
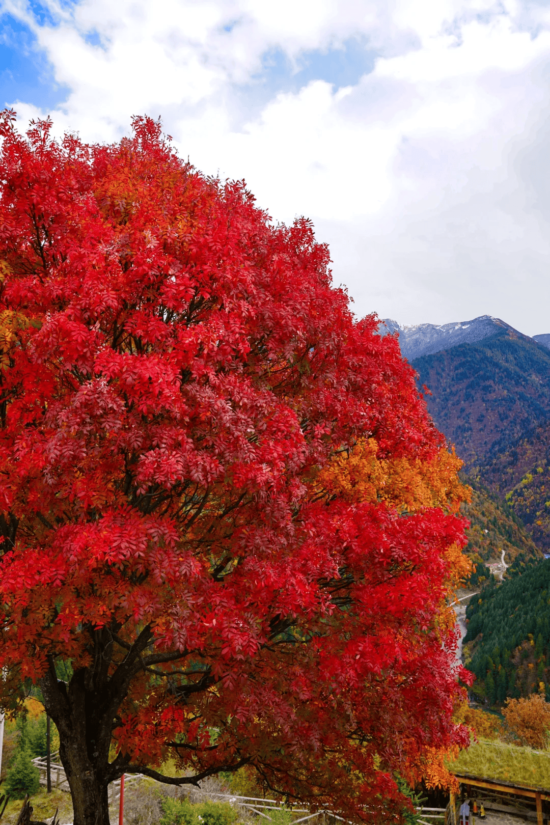
[[477, 676], [474, 691], [491, 705], [536, 691], [550, 699], [550, 559], [500, 586], [491, 579], [466, 618], [464, 652]]

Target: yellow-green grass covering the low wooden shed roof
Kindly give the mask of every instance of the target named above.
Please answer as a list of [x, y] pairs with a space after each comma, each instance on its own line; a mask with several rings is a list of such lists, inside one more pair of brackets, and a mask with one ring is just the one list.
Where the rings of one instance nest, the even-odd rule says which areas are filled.
[[550, 752], [480, 739], [449, 764], [451, 771], [550, 790]]

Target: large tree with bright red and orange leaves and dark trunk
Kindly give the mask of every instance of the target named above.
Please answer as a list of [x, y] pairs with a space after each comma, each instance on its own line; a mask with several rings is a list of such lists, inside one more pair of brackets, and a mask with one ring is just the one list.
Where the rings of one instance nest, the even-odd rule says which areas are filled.
[[[397, 341], [307, 220], [273, 225], [153, 120], [90, 146], [6, 111], [1, 134], [0, 705], [40, 686], [75, 825], [108, 823], [124, 772], [244, 765], [397, 813], [397, 774], [464, 741], [454, 482], [378, 494], [443, 444]], [[339, 487], [357, 445], [368, 495]]]

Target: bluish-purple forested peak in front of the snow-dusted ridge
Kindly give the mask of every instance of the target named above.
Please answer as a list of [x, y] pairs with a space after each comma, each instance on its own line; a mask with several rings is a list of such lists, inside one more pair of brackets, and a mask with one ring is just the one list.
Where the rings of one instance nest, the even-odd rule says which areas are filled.
[[432, 393], [426, 400], [435, 424], [469, 468], [550, 419], [550, 350], [511, 327], [412, 365]]

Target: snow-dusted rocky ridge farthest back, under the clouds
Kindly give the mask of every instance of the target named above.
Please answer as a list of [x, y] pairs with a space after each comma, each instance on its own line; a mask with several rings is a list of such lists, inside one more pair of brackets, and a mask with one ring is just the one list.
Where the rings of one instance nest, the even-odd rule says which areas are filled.
[[[482, 341], [484, 338], [496, 335], [498, 332], [510, 330], [516, 336], [523, 336], [510, 324], [501, 321], [501, 318], [492, 318], [491, 315], [480, 315], [472, 321], [458, 323], [418, 323], [411, 327], [402, 327], [391, 318], [384, 318], [379, 324], [381, 335], [388, 332], [399, 333], [399, 346], [403, 356], [408, 361], [414, 361], [421, 356], [433, 355], [435, 352], [449, 350], [460, 344], [471, 344]], [[546, 336], [538, 336], [544, 338]], [[550, 337], [550, 336], [548, 336]], [[530, 340], [530, 339], [529, 339]]]

